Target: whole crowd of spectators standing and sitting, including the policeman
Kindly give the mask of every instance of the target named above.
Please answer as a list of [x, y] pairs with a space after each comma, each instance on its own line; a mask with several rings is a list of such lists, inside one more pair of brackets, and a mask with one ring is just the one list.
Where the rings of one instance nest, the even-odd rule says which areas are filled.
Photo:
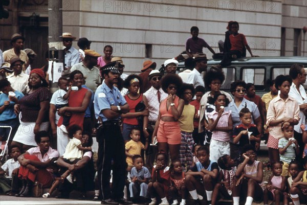
[[[165, 74], [146, 60], [141, 74], [126, 75], [111, 45], [101, 56], [80, 38], [78, 51], [72, 47], [76, 37], [63, 33], [65, 68], [53, 94], [52, 68], [32, 68], [35, 52], [22, 50], [26, 39], [14, 34], [12, 49], [3, 53], [9, 64], [0, 70], [0, 140], [7, 141], [10, 155], [0, 170], [2, 191], [27, 197], [37, 184], [49, 188], [44, 198], [56, 189], [63, 198], [72, 190], [81, 198], [94, 191], [94, 200], [113, 205], [213, 205], [220, 198], [235, 205], [307, 203], [305, 69], [292, 65], [289, 75], [268, 82], [271, 92], [262, 98], [242, 80], [231, 83], [230, 94], [221, 90], [221, 67], [241, 57], [243, 48], [250, 52], [237, 31], [231, 21], [224, 47], [229, 51], [207, 71], [202, 49], [212, 49], [192, 27], [186, 54], [193, 70], [180, 75], [175, 58], [165, 60]], [[266, 136], [268, 181], [257, 160]]]

